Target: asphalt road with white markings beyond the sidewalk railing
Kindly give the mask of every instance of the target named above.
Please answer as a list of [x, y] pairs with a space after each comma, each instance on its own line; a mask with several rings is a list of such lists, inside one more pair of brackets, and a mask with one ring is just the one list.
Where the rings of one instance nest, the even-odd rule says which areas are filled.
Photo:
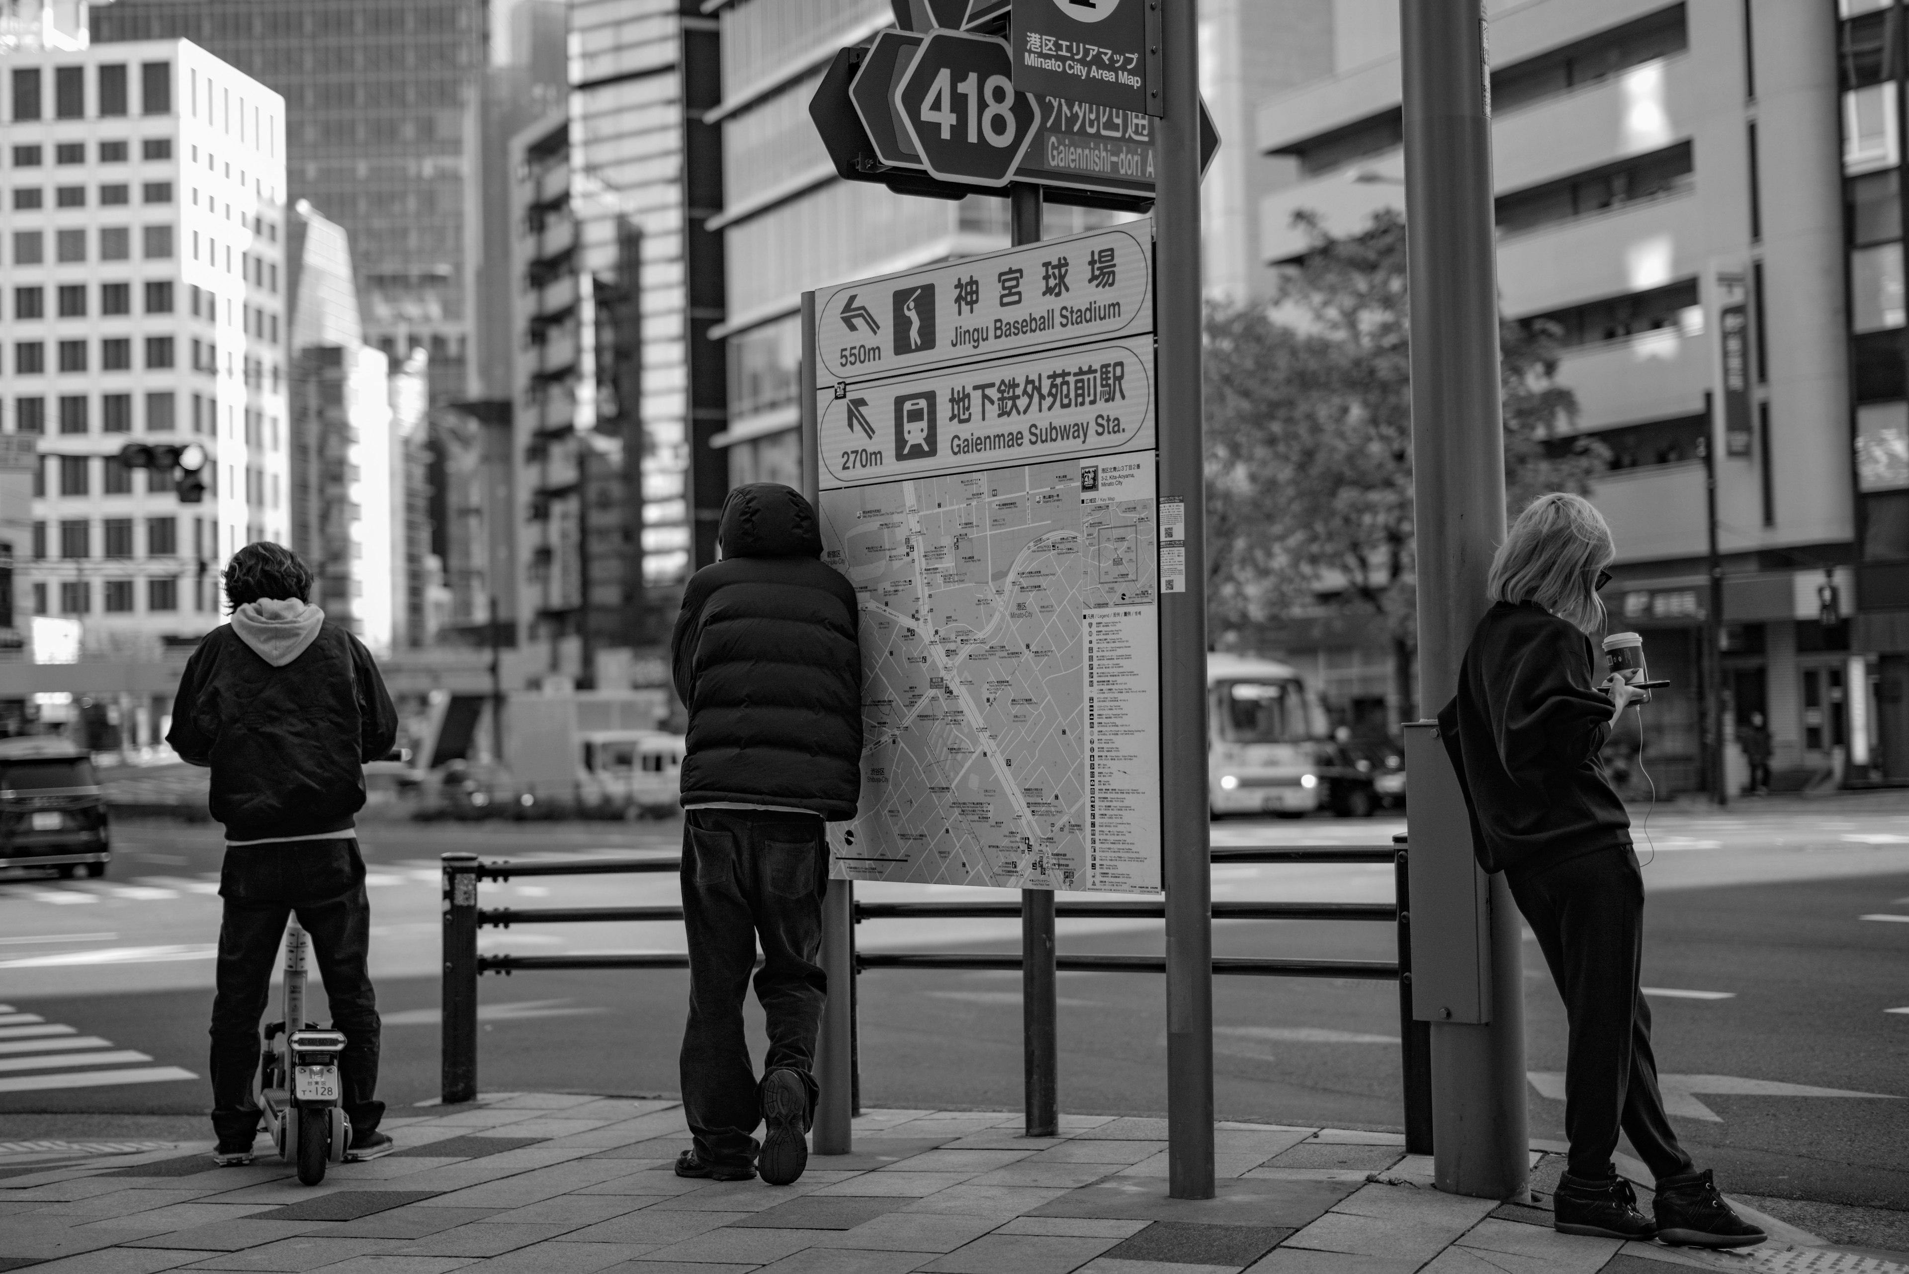
[[[1384, 842], [1397, 829], [1388, 819], [1227, 821], [1216, 840]], [[1644, 982], [1678, 1133], [1730, 1190], [1909, 1211], [1909, 800], [1659, 812], [1649, 829]], [[412, 1104], [437, 1093], [439, 852], [674, 852], [678, 835], [674, 823], [363, 827], [386, 1014], [382, 1094]], [[99, 882], [0, 881], [0, 1001], [10, 1007], [0, 1010], [0, 1140], [199, 1135], [220, 842], [208, 827], [126, 823], [116, 852]], [[1390, 875], [1222, 867], [1214, 894], [1380, 902]], [[859, 886], [863, 898], [951, 892]], [[506, 900], [662, 903], [674, 879], [485, 884], [489, 905]], [[859, 942], [1014, 949], [1016, 934], [1014, 923], [987, 921], [865, 924]], [[1386, 924], [1216, 930], [1222, 955], [1390, 959], [1392, 944]], [[1161, 938], [1157, 926], [1077, 921], [1061, 926], [1061, 947], [1159, 951]], [[519, 926], [487, 932], [485, 949], [682, 949], [682, 934]], [[1562, 1138], [1563, 1012], [1533, 944], [1525, 986], [1531, 1135]], [[487, 978], [481, 1087], [672, 1093], [683, 999], [682, 972]], [[869, 972], [859, 1018], [865, 1104], [1019, 1106], [1019, 974]], [[1061, 974], [1063, 1110], [1163, 1112], [1163, 1024], [1157, 976]], [[1394, 984], [1220, 978], [1214, 1024], [1220, 1117], [1399, 1125]]]

